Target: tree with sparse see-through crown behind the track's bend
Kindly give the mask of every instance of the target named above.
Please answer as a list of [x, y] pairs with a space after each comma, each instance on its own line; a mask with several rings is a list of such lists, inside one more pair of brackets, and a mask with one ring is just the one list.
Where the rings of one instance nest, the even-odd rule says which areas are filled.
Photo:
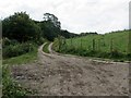
[[45, 13], [44, 21], [39, 22], [38, 24], [41, 29], [41, 36], [44, 38], [53, 41], [53, 39], [60, 35], [60, 22], [53, 14]]

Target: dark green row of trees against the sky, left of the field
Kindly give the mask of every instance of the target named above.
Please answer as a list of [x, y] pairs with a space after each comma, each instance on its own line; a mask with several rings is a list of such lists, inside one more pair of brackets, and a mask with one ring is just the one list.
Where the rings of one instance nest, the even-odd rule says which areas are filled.
[[20, 42], [28, 40], [41, 41], [43, 38], [53, 41], [58, 36], [75, 37], [76, 34], [61, 29], [58, 17], [45, 13], [43, 21], [35, 21], [26, 12], [16, 12], [2, 20], [2, 37], [15, 39]]

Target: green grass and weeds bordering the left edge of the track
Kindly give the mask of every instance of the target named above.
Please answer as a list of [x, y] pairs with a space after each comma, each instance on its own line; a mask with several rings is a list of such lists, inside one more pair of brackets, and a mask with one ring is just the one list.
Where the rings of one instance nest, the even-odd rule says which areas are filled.
[[25, 98], [26, 95], [32, 94], [32, 89], [23, 88], [19, 83], [16, 83], [11, 77], [10, 66], [14, 64], [23, 64], [23, 63], [29, 63], [37, 59], [37, 48], [34, 49], [34, 51], [10, 58], [4, 59], [2, 64], [2, 95], [3, 98]]

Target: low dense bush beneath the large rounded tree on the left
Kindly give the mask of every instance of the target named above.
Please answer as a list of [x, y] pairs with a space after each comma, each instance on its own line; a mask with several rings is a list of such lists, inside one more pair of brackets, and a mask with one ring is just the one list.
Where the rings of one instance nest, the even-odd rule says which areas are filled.
[[20, 44], [16, 40], [3, 40], [2, 57], [3, 59], [17, 57], [27, 52], [31, 52], [36, 47], [35, 42], [27, 41]]

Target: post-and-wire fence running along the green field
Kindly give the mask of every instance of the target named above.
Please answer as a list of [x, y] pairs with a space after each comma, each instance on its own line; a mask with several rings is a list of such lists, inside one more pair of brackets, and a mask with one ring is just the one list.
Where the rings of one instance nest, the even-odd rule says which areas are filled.
[[66, 39], [59, 37], [59, 50], [61, 49], [78, 49], [86, 51], [98, 51], [98, 52], [118, 52], [128, 54], [129, 49], [127, 45], [117, 44], [114, 38], [108, 41], [104, 38], [93, 38], [92, 40], [86, 40], [83, 38], [70, 38]]

